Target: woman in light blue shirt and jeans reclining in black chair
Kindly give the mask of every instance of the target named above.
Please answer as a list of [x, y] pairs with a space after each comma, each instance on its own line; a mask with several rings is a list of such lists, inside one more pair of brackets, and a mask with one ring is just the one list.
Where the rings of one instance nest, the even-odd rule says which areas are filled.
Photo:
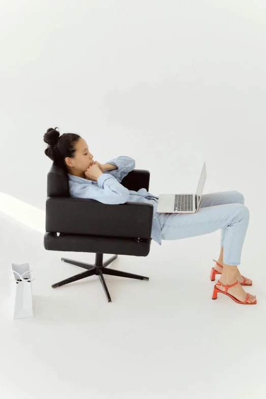
[[162, 240], [180, 240], [221, 229], [221, 252], [215, 268], [212, 268], [211, 280], [215, 279], [215, 274], [221, 274], [221, 277], [214, 287], [212, 299], [216, 299], [217, 292], [220, 292], [237, 303], [257, 303], [256, 295], [247, 294], [242, 287], [252, 285], [252, 281], [242, 276], [237, 268], [249, 224], [249, 209], [244, 205], [241, 193], [204, 194], [195, 214], [157, 213], [158, 196], [144, 188], [136, 192], [120, 184], [135, 169], [133, 158], [119, 156], [107, 164], [100, 164], [93, 161], [93, 155], [81, 136], [65, 133], [59, 137], [56, 129], [49, 128], [44, 135], [48, 144], [45, 154], [67, 171], [71, 197], [95, 199], [105, 204], [152, 203], [151, 238], [159, 245]]

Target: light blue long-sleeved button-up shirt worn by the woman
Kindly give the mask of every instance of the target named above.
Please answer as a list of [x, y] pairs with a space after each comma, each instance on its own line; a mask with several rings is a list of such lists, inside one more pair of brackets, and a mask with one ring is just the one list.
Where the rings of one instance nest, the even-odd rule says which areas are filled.
[[148, 193], [146, 189], [140, 189], [139, 191], [128, 190], [121, 184], [122, 179], [135, 169], [135, 159], [129, 156], [118, 156], [108, 161], [107, 164], [116, 165], [118, 169], [103, 172], [97, 181], [68, 173], [70, 196], [94, 199], [103, 204], [124, 204], [127, 201], [152, 203], [151, 238], [159, 245], [162, 245], [161, 224], [164, 223], [167, 214], [156, 212], [159, 197]]

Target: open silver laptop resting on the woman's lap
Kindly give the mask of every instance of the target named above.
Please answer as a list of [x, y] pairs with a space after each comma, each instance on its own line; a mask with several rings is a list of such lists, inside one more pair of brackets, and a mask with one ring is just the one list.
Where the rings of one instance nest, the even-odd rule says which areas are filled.
[[160, 194], [156, 211], [166, 214], [195, 214], [199, 209], [206, 177], [204, 162], [196, 194]]

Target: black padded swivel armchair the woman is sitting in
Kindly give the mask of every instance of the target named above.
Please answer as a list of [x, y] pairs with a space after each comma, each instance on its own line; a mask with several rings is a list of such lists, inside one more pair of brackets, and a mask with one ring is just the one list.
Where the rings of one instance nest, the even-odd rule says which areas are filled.
[[[137, 169], [129, 172], [121, 184], [129, 190], [145, 188], [149, 191], [149, 180], [149, 171]], [[108, 302], [112, 302], [103, 274], [149, 280], [107, 268], [118, 255], [105, 262], [102, 258], [104, 253], [147, 256], [152, 240], [152, 218], [150, 203], [109, 205], [92, 199], [72, 198], [67, 171], [53, 162], [47, 176], [44, 248], [48, 251], [93, 252], [96, 256], [94, 264], [61, 258], [87, 271], [52, 284], [52, 288], [97, 275]]]

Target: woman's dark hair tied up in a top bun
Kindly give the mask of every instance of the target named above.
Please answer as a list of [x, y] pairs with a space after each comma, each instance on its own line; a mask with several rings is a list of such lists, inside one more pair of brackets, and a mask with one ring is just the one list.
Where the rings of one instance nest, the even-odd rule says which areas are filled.
[[[76, 152], [75, 143], [81, 138], [81, 136], [75, 133], [64, 133], [60, 136], [58, 127], [47, 129], [43, 136], [43, 140], [48, 144], [45, 149], [45, 155], [47, 155], [55, 164], [66, 168], [65, 158], [73, 157]], [[59, 137], [60, 136], [60, 137]]]

